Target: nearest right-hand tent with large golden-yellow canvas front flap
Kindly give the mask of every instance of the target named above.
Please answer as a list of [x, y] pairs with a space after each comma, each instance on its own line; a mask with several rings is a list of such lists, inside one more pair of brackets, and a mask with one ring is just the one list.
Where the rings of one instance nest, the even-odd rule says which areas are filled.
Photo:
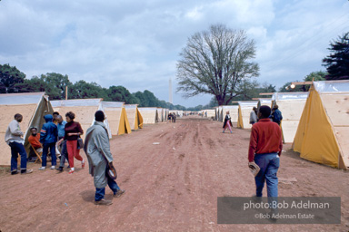
[[349, 167], [349, 81], [314, 82], [294, 137], [301, 158]]

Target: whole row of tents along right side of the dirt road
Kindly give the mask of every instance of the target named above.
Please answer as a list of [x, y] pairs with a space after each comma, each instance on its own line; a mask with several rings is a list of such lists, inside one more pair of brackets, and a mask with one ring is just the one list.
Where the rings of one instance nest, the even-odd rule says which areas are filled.
[[283, 140], [293, 143], [301, 158], [349, 168], [349, 81], [313, 82], [309, 92], [274, 92], [269, 99], [205, 110], [204, 116], [224, 121], [226, 111], [230, 111], [238, 128], [250, 129], [253, 107], [275, 104], [283, 114]]

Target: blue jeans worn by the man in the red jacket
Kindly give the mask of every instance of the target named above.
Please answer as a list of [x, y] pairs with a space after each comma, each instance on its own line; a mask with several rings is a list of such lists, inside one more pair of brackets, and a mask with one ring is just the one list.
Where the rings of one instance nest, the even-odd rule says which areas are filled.
[[254, 162], [261, 169], [254, 178], [257, 197], [262, 197], [264, 181], [266, 181], [268, 198], [277, 197], [278, 179], [276, 173], [280, 166], [279, 156], [277, 153], [256, 154]]

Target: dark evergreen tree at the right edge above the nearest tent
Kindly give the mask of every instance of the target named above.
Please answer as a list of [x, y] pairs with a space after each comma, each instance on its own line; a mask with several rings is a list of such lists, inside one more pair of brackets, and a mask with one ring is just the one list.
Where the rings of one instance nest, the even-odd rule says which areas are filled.
[[330, 44], [330, 55], [323, 59], [326, 80], [349, 80], [349, 32]]

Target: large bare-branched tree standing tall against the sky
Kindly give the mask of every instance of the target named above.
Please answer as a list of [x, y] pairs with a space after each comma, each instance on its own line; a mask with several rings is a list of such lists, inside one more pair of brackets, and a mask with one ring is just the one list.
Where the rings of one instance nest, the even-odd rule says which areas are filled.
[[209, 93], [219, 105], [228, 104], [243, 94], [244, 79], [258, 76], [258, 64], [251, 61], [254, 55], [254, 40], [248, 40], [244, 30], [211, 25], [209, 31], [191, 36], [180, 53], [177, 92], [184, 97]]

